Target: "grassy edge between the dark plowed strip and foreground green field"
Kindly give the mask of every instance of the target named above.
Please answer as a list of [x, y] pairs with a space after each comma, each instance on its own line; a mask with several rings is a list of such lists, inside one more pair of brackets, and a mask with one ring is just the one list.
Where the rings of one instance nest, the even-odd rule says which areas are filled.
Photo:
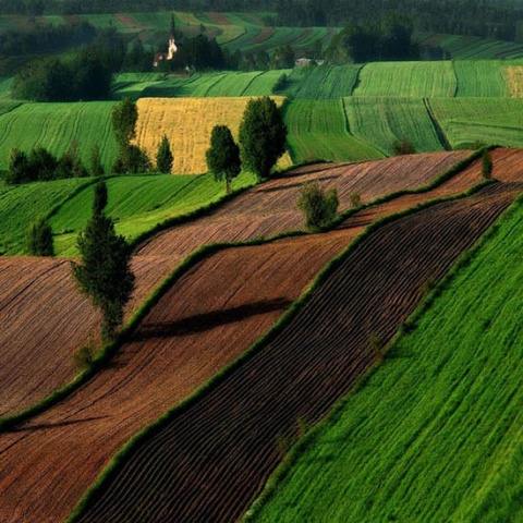
[[[479, 185], [483, 186], [488, 184], [490, 183], [479, 183]], [[440, 282], [436, 284], [436, 287], [427, 294], [427, 296], [422, 300], [411, 316], [409, 316], [409, 318], [400, 326], [390, 342], [384, 348], [384, 361], [387, 361], [387, 356], [390, 357], [390, 354], [398, 346], [399, 342], [417, 327], [417, 321], [431, 308], [435, 300], [446, 289], [448, 289], [450, 283], [458, 277], [461, 270], [469, 266], [477, 253], [496, 235], [502, 223], [509, 220], [515, 209], [520, 206], [523, 206], [523, 194], [520, 194], [520, 196], [514, 199], [509, 208], [506, 209], [501, 216], [487, 229], [479, 240], [458, 258], [455, 264], [451, 267], [447, 275], [443, 276]], [[363, 376], [356, 379], [354, 387], [344, 397], [337, 401], [326, 417], [318, 422], [291, 447], [290, 451], [285, 455], [285, 459], [280, 463], [280, 465], [278, 465], [265, 484], [260, 495], [254, 500], [250, 509], [241, 518], [240, 521], [242, 523], [248, 523], [259, 513], [265, 503], [275, 496], [277, 488], [287, 478], [292, 466], [296, 463], [306, 448], [314, 445], [315, 440], [325, 430], [328, 430], [331, 424], [336, 423], [343, 409], [349, 403], [350, 399], [366, 386], [380, 365], [382, 365], [382, 362], [375, 362], [374, 365]]]

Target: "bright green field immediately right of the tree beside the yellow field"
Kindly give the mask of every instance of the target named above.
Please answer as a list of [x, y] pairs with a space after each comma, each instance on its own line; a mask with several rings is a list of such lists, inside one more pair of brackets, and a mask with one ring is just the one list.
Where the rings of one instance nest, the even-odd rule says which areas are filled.
[[341, 99], [295, 100], [285, 108], [285, 124], [294, 162], [366, 160], [384, 156], [346, 132]]

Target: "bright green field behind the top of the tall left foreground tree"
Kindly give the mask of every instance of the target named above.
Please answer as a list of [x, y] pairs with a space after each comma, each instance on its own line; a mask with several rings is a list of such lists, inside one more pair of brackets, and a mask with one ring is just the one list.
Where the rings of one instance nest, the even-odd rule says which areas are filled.
[[[254, 182], [254, 177], [242, 173], [232, 188]], [[210, 174], [118, 177], [107, 181], [107, 214], [114, 220], [117, 232], [130, 241], [168, 218], [196, 210], [224, 195], [224, 184], [215, 182]], [[76, 236], [90, 218], [93, 198], [93, 187], [87, 187], [51, 218], [58, 255], [76, 254]]]

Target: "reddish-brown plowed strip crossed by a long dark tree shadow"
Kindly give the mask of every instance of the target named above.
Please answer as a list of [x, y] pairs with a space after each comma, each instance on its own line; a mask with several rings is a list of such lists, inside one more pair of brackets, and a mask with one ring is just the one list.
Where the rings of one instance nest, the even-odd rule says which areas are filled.
[[[244, 352], [369, 221], [460, 193], [479, 180], [476, 162], [429, 193], [358, 212], [331, 233], [228, 248], [204, 259], [160, 300], [109, 369], [0, 437], [0, 516], [27, 522], [64, 519], [133, 434]], [[496, 198], [502, 199], [497, 193]], [[481, 198], [474, 205], [483, 208]], [[163, 245], [165, 235], [158, 238]], [[399, 306], [402, 303], [400, 297]], [[379, 326], [376, 331], [380, 333]], [[69, 449], [65, 455], [61, 449]]]

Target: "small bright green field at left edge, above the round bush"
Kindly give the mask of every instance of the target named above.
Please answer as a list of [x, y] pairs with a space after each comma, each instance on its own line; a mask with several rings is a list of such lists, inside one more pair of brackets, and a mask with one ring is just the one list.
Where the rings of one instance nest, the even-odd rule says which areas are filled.
[[65, 198], [74, 194], [87, 179], [36, 182], [24, 185], [0, 184], [0, 254], [25, 254], [29, 224], [47, 216]]

